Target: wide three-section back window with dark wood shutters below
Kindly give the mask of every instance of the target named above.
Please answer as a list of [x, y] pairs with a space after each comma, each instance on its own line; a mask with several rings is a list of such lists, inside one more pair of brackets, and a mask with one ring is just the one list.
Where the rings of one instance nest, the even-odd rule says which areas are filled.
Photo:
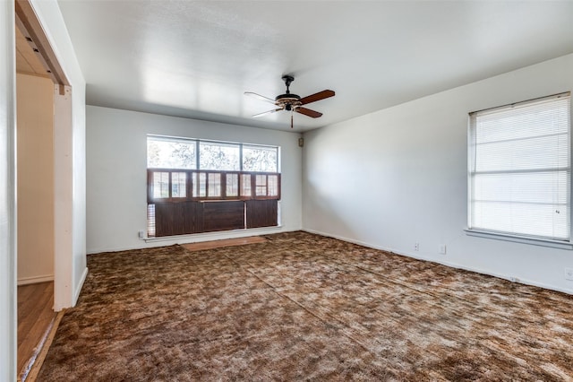
[[278, 225], [278, 147], [148, 136], [148, 237]]

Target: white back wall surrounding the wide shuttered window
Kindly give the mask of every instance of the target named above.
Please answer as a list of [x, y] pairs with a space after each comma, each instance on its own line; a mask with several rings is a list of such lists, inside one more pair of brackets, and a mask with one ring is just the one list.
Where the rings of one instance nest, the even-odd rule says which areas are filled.
[[[280, 229], [233, 230], [145, 242], [147, 231], [147, 135], [272, 144], [281, 147]], [[88, 253], [226, 239], [300, 230], [302, 153], [299, 134], [119, 109], [87, 107]]]

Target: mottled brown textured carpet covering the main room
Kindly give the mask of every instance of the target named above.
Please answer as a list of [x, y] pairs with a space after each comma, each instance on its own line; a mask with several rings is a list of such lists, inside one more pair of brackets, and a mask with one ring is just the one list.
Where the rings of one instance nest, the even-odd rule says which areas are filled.
[[304, 232], [88, 257], [38, 380], [571, 380], [573, 297]]

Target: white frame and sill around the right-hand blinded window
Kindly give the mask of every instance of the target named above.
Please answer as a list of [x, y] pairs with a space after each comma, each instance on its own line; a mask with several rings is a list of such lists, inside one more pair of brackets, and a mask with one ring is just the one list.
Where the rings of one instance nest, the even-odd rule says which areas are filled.
[[[475, 170], [472, 169], [473, 165], [475, 165], [475, 159], [474, 159], [474, 155], [475, 155], [475, 138], [473, 136], [474, 134], [474, 129], [477, 128], [474, 126], [475, 121], [473, 120], [473, 118], [475, 118], [475, 116], [478, 113], [483, 113], [483, 112], [495, 112], [495, 111], [499, 111], [499, 110], [504, 110], [504, 109], [509, 109], [511, 107], [526, 107], [527, 104], [531, 104], [531, 105], [536, 105], [538, 104], [538, 102], [543, 101], [543, 100], [557, 100], [560, 99], [562, 97], [567, 97], [569, 99], [569, 119], [568, 119], [568, 126], [567, 126], [567, 144], [568, 144], [568, 158], [567, 158], [567, 167], [562, 169], [564, 171], [569, 171], [568, 174], [568, 181], [569, 183], [567, 184], [566, 187], [566, 207], [565, 210], [568, 213], [567, 216], [567, 226], [569, 228], [569, 238], [568, 239], [559, 239], [559, 238], [551, 238], [551, 237], [547, 237], [547, 236], [542, 236], [542, 235], [530, 235], [530, 234], [521, 234], [521, 233], [517, 233], [517, 232], [511, 232], [511, 231], [505, 231], [505, 230], [489, 230], [489, 229], [483, 229], [483, 228], [475, 228], [472, 227], [472, 207], [473, 207], [473, 198], [474, 198], [474, 175], [475, 175]], [[480, 237], [480, 238], [487, 238], [487, 239], [501, 239], [501, 240], [507, 240], [507, 241], [513, 241], [513, 242], [518, 242], [518, 243], [524, 243], [524, 244], [532, 244], [532, 245], [537, 245], [537, 246], [543, 246], [543, 247], [557, 247], [557, 248], [563, 248], [563, 249], [573, 249], [573, 242], [571, 241], [572, 235], [571, 235], [571, 221], [572, 221], [572, 213], [573, 213], [573, 206], [571, 204], [571, 149], [573, 147], [572, 144], [572, 135], [571, 135], [571, 99], [570, 99], [570, 92], [566, 91], [566, 92], [562, 92], [559, 94], [554, 94], [551, 96], [547, 96], [547, 97], [540, 97], [534, 100], [525, 100], [522, 102], [516, 102], [513, 104], [509, 104], [509, 105], [504, 105], [504, 106], [500, 106], [500, 107], [495, 107], [495, 108], [491, 108], [491, 109], [483, 109], [483, 110], [478, 110], [475, 112], [471, 112], [469, 113], [469, 117], [468, 117], [468, 125], [467, 125], [467, 226], [466, 226], [466, 234], [469, 236], [475, 236], [475, 237]], [[512, 171], [511, 169], [509, 169], [507, 171], [508, 173], [517, 173], [519, 172], [518, 169], [515, 169], [514, 171]], [[529, 172], [543, 172], [543, 169], [539, 169], [538, 171], [529, 171]]]

